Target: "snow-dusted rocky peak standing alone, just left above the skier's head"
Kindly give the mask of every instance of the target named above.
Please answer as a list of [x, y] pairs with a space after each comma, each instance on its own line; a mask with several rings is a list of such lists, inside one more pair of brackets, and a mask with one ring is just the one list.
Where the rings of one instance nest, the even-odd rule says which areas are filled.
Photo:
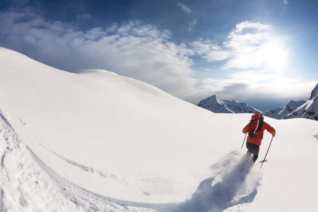
[[203, 99], [197, 105], [214, 113], [259, 113], [260, 111], [246, 103], [224, 100], [218, 95]]

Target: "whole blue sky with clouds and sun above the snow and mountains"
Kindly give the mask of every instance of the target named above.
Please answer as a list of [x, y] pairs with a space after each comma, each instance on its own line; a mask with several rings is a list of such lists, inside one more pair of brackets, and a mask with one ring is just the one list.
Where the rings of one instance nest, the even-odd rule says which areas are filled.
[[318, 83], [315, 0], [0, 0], [0, 46], [266, 112]]

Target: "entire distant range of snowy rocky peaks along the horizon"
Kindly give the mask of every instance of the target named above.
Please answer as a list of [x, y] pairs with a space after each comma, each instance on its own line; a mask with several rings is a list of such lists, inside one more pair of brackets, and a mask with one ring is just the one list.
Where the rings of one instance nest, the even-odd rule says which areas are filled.
[[[224, 100], [218, 95], [203, 99], [199, 107], [214, 113], [258, 113], [259, 110], [246, 103]], [[264, 116], [275, 119], [308, 118], [318, 121], [318, 84], [312, 90], [308, 101], [291, 100], [282, 108], [268, 111]]]

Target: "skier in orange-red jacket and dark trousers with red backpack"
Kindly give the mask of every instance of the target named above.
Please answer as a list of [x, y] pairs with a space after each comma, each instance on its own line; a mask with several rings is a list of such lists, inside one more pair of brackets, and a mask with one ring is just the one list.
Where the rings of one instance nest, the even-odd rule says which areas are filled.
[[256, 113], [252, 115], [252, 120], [246, 124], [243, 128], [243, 133], [248, 133], [246, 139], [247, 152], [253, 154], [252, 160], [255, 162], [259, 154], [259, 146], [263, 139], [264, 130], [267, 130], [273, 136], [275, 136], [275, 129], [264, 122], [264, 117], [261, 113]]

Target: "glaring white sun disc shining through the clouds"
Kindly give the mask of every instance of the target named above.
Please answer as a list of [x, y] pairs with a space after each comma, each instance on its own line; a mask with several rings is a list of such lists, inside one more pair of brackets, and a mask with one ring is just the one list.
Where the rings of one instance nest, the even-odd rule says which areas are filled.
[[262, 54], [271, 69], [280, 71], [287, 67], [287, 49], [280, 44], [275, 42], [265, 44]]

